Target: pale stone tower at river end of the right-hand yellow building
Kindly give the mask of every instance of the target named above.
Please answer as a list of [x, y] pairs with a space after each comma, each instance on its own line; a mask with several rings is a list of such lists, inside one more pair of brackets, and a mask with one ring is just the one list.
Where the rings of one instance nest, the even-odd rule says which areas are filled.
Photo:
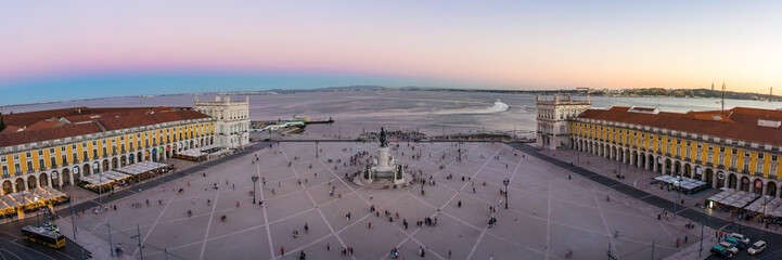
[[591, 98], [574, 100], [569, 94], [560, 98], [554, 95], [550, 100], [537, 96], [536, 107], [538, 147], [560, 148], [571, 146], [568, 121], [592, 106]]

